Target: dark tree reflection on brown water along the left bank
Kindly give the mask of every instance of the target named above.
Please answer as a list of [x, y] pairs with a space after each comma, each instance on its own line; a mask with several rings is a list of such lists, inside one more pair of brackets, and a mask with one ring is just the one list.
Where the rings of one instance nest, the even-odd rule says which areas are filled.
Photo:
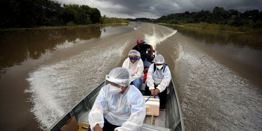
[[116, 28], [124, 25], [0, 32], [0, 74], [6, 73], [3, 68], [20, 65], [27, 59], [39, 59], [42, 54], [56, 50], [57, 45], [65, 42], [75, 43], [79, 40], [99, 38], [108, 26]]

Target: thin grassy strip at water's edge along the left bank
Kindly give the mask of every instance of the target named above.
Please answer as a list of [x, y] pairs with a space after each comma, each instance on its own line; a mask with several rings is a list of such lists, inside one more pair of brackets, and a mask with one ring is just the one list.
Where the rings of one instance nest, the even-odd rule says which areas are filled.
[[67, 28], [67, 27], [90, 27], [90, 26], [101, 26], [101, 25], [115, 25], [115, 24], [131, 24], [131, 23], [109, 23], [109, 24], [89, 24], [89, 25], [65, 25], [65, 26], [38, 26], [33, 28], [9, 28], [9, 29], [0, 29], [0, 31], [13, 31], [13, 30], [38, 30], [38, 29], [60, 29], [60, 28]]

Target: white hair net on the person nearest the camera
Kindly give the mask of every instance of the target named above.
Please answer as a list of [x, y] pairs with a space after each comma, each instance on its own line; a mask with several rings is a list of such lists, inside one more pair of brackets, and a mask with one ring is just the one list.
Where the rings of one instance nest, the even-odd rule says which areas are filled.
[[106, 75], [105, 79], [121, 86], [128, 86], [131, 83], [129, 71], [124, 67], [114, 68]]

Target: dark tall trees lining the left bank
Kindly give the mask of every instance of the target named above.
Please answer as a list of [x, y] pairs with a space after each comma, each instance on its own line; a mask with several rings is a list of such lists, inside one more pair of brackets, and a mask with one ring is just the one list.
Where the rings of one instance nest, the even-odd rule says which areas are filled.
[[0, 28], [87, 25], [101, 23], [97, 8], [63, 4], [56, 0], [0, 0]]

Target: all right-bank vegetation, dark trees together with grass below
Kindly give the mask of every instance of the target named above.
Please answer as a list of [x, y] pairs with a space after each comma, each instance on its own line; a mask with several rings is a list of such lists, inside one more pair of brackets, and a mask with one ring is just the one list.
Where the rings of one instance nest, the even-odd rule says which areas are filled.
[[243, 13], [238, 10], [215, 7], [212, 12], [201, 10], [199, 12], [184, 12], [169, 14], [158, 19], [136, 18], [130, 21], [141, 20], [144, 22], [183, 25], [209, 30], [224, 30], [244, 32], [249, 34], [262, 34], [262, 11], [247, 10]]

